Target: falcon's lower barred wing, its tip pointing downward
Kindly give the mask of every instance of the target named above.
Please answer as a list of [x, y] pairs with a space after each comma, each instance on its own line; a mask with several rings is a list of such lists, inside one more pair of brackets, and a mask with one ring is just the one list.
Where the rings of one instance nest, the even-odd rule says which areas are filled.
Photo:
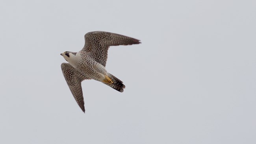
[[86, 78], [81, 77], [76, 69], [69, 63], [62, 63], [61, 70], [76, 102], [82, 111], [85, 112], [81, 82]]

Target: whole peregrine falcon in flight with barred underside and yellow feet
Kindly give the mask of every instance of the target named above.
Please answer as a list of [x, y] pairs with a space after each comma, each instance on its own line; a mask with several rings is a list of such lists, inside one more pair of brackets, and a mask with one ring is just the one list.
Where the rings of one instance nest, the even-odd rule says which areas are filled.
[[131, 37], [104, 31], [86, 33], [84, 38], [85, 45], [79, 52], [61, 53], [68, 62], [61, 64], [63, 76], [83, 112], [85, 112], [81, 87], [83, 80], [95, 79], [119, 92], [124, 91], [125, 86], [122, 81], [110, 74], [105, 68], [109, 46], [141, 43], [139, 40]]

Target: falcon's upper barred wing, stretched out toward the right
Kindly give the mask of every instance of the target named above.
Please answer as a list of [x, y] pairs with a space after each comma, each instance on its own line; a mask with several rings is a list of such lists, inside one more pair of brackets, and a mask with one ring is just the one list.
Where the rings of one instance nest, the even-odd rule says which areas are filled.
[[88, 55], [103, 66], [106, 66], [109, 46], [141, 43], [139, 40], [131, 37], [104, 31], [92, 31], [86, 33], [84, 38], [85, 45], [82, 50], [87, 52]]

